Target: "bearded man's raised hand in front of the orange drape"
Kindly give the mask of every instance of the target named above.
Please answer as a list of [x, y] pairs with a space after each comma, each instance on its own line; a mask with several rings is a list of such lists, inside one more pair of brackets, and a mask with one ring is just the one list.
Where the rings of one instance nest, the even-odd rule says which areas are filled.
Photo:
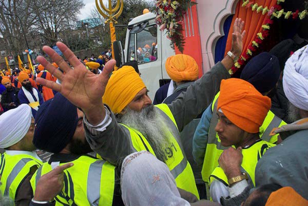
[[231, 52], [236, 56], [240, 56], [243, 51], [243, 38], [246, 34], [246, 31], [243, 31], [244, 24], [242, 19], [236, 18], [233, 25]]

